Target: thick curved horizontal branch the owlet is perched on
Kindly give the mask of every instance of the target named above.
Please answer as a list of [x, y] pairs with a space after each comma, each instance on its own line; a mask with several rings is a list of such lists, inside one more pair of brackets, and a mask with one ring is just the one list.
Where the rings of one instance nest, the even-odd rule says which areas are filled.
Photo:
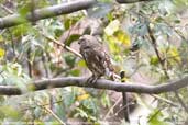
[[[163, 92], [170, 92], [178, 90], [188, 86], [188, 77], [185, 77], [180, 80], [176, 80], [169, 83], [162, 83], [158, 86], [147, 86], [143, 83], [122, 83], [117, 81], [110, 81], [100, 79], [96, 83], [90, 84], [86, 83], [87, 78], [80, 77], [67, 77], [67, 78], [55, 78], [55, 79], [46, 79], [40, 80], [31, 83], [29, 88], [32, 88], [32, 91], [45, 90], [49, 88], [64, 88], [69, 86], [75, 87], [87, 87], [87, 88], [96, 88], [96, 89], [107, 89], [114, 90], [118, 92], [136, 92], [136, 93], [150, 93], [150, 94], [159, 94]], [[4, 87], [0, 86], [0, 94], [1, 95], [19, 95], [23, 94], [19, 88], [15, 87]]]

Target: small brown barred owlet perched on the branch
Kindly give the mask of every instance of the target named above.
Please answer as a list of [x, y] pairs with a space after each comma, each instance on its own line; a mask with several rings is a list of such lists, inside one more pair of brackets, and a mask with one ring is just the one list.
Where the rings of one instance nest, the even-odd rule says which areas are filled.
[[92, 72], [88, 82], [95, 83], [101, 76], [112, 77], [113, 68], [110, 57], [97, 37], [84, 35], [79, 38], [78, 44], [80, 45], [80, 54]]

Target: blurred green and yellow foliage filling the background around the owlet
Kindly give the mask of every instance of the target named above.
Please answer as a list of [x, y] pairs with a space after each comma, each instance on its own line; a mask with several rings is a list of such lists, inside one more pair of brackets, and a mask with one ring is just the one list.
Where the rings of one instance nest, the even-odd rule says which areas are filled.
[[[20, 13], [20, 20], [24, 20], [26, 13], [32, 11], [31, 1], [1, 0], [0, 3], [4, 8], [0, 8], [0, 16], [10, 14], [8, 10], [11, 10], [13, 13]], [[60, 0], [41, 0], [36, 8], [59, 2]], [[181, 78], [188, 71], [185, 10], [187, 11], [187, 0], [159, 0], [125, 5], [114, 4], [112, 0], [100, 0], [93, 9], [88, 9], [87, 13], [89, 18], [108, 20], [101, 38], [111, 55], [115, 72], [125, 70], [128, 79], [132, 81], [145, 82], [146, 79], [146, 82], [162, 83]], [[32, 80], [87, 75], [82, 59], [43, 35], [59, 39], [62, 34], [85, 18], [87, 15], [80, 11], [1, 30], [0, 84], [16, 86], [24, 92]], [[155, 37], [154, 41], [150, 34]], [[70, 35], [67, 45], [77, 50], [76, 41], [79, 36], [80, 34]], [[187, 104], [187, 88], [181, 89], [178, 94]], [[161, 100], [154, 106], [153, 103], [146, 104], [150, 99], [142, 100], [135, 95], [137, 105], [150, 111], [145, 122], [140, 125], [145, 125], [146, 122], [148, 125], [183, 124], [188, 118], [175, 94], [165, 93], [161, 96], [176, 106]], [[75, 118], [78, 122], [100, 124], [107, 112], [114, 106], [107, 91], [76, 87], [21, 96], [0, 96], [0, 121], [19, 125], [23, 124], [22, 122], [58, 124], [46, 109], [67, 123]]]

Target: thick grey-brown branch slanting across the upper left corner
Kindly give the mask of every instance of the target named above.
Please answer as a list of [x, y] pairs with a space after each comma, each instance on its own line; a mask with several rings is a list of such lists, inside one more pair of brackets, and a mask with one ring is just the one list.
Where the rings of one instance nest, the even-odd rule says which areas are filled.
[[41, 19], [52, 18], [60, 14], [67, 14], [79, 10], [88, 9], [96, 2], [97, 0], [76, 0], [68, 3], [62, 3], [58, 5], [37, 9], [34, 11], [34, 19], [32, 19], [31, 13], [26, 14], [25, 18], [21, 16], [20, 14], [12, 14], [5, 18], [0, 18], [0, 29], [19, 25], [27, 21], [38, 21]]

